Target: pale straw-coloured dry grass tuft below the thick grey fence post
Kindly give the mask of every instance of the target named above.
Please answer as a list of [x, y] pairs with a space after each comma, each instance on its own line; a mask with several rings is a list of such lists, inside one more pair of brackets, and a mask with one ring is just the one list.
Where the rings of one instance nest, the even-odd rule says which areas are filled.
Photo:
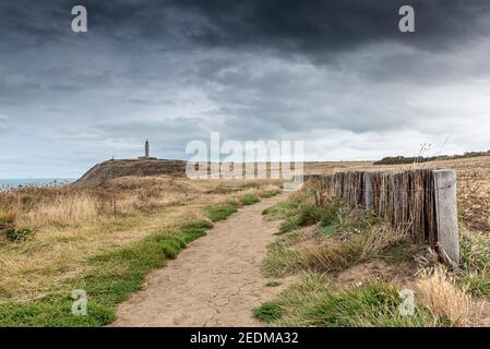
[[470, 325], [471, 297], [455, 288], [453, 280], [442, 267], [432, 274], [422, 272], [416, 284], [417, 297], [433, 315], [449, 321], [452, 326]]

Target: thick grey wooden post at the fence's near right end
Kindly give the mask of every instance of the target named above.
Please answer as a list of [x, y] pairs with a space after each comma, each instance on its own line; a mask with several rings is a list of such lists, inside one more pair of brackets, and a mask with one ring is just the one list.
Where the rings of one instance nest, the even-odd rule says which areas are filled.
[[445, 262], [459, 264], [456, 172], [440, 169], [433, 171], [433, 177], [439, 253]]

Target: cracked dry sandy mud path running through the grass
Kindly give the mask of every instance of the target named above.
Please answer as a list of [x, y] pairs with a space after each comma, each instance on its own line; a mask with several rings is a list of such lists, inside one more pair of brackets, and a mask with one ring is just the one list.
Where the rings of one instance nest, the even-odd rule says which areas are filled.
[[261, 273], [266, 246], [278, 222], [262, 210], [286, 198], [279, 194], [240, 208], [189, 244], [143, 290], [118, 309], [111, 326], [260, 326], [252, 309], [279, 293]]

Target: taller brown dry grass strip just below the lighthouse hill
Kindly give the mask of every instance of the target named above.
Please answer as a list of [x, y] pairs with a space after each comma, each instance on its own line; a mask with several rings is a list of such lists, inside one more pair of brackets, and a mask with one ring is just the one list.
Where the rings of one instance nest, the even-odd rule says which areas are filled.
[[0, 192], [0, 217], [39, 229], [131, 215], [198, 197], [204, 189], [171, 177], [119, 178], [99, 189], [71, 185]]

